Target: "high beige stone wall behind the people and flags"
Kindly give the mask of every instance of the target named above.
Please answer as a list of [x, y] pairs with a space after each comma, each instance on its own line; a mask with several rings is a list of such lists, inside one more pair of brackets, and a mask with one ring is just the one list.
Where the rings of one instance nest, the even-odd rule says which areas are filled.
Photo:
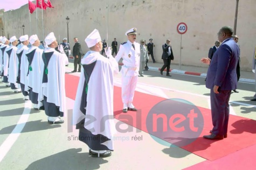
[[[54, 32], [62, 41], [67, 37], [66, 17], [70, 18], [69, 40], [74, 45], [75, 36], [81, 42], [84, 52], [88, 50], [84, 42], [94, 28], [99, 29], [101, 38], [110, 45], [114, 38], [122, 43], [127, 40], [124, 33], [136, 27], [137, 41], [150, 38], [155, 43], [154, 55], [162, 62], [162, 45], [170, 39], [175, 60], [172, 63], [206, 66], [200, 63], [207, 57], [209, 48], [217, 40], [217, 32], [222, 26], [234, 26], [235, 0], [51, 0], [54, 8], [41, 9], [29, 15], [27, 5], [4, 12], [5, 34], [17, 37], [23, 34], [37, 34], [41, 40]], [[256, 1], [239, 2], [237, 35], [241, 48], [241, 69], [251, 71], [253, 48], [256, 45]], [[31, 19], [30, 19], [31, 18]], [[31, 20], [31, 22], [30, 22]], [[188, 31], [177, 33], [178, 23], [188, 25]], [[31, 26], [30, 26], [31, 23]], [[44, 25], [44, 29], [43, 29]], [[0, 26], [1, 27], [1, 26]], [[182, 52], [181, 49], [182, 38]]]

